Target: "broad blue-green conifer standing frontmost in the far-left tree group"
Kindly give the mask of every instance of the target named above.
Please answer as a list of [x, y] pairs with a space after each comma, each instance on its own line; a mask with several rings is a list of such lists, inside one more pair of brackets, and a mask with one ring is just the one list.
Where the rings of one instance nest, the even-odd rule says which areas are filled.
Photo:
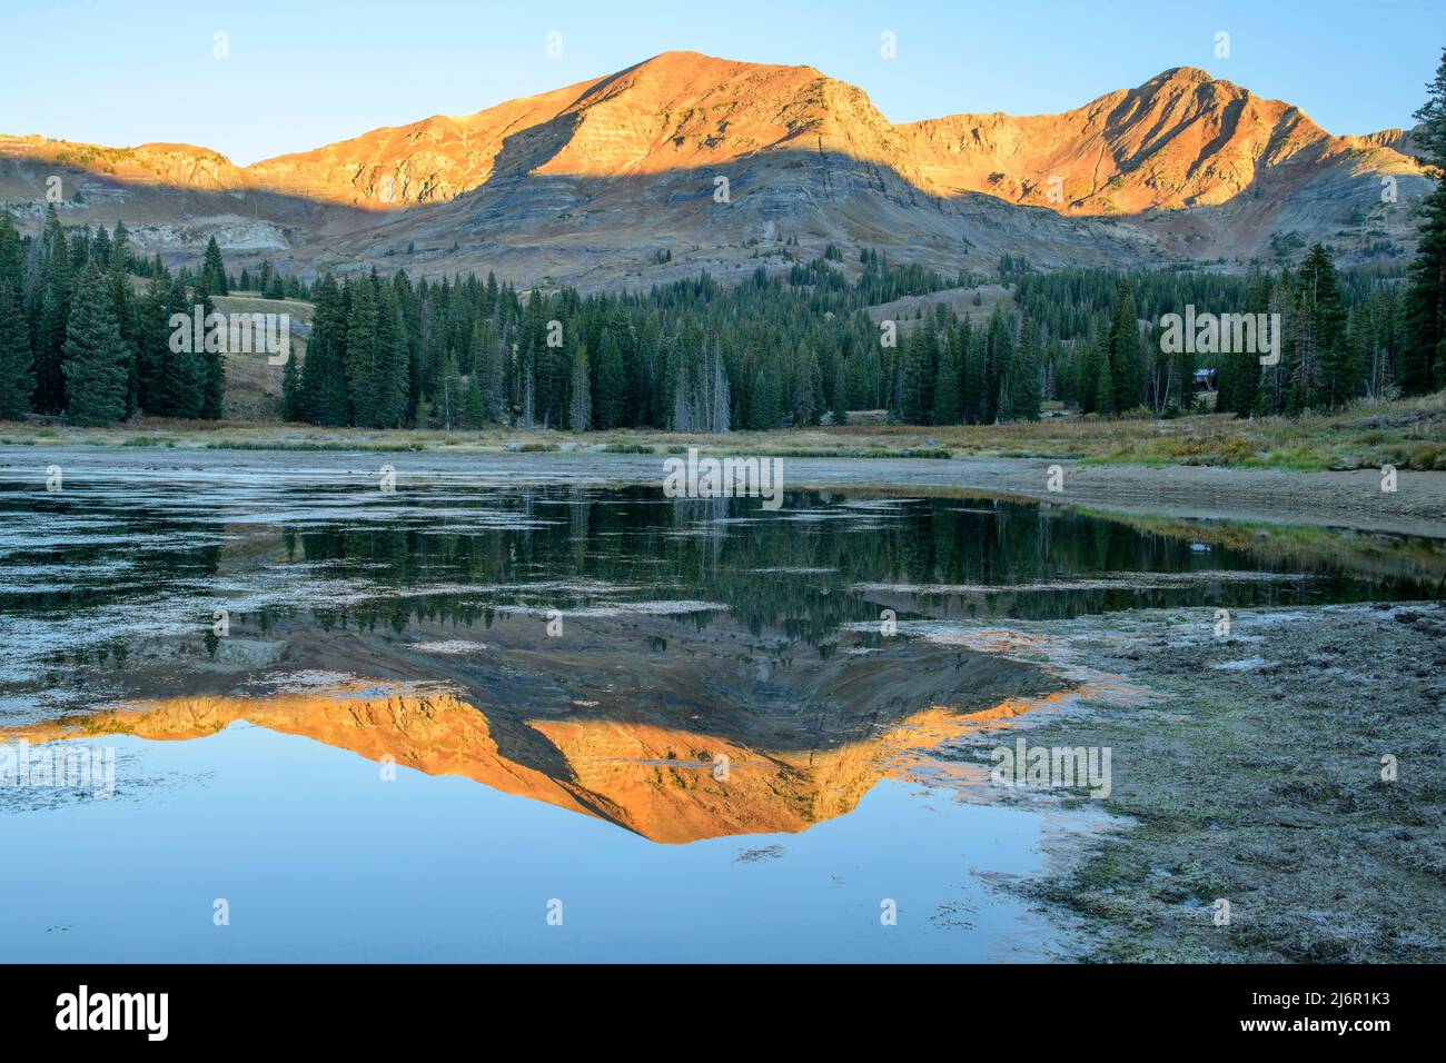
[[65, 328], [67, 417], [81, 425], [114, 424], [126, 415], [126, 349], [106, 275], [87, 265]]

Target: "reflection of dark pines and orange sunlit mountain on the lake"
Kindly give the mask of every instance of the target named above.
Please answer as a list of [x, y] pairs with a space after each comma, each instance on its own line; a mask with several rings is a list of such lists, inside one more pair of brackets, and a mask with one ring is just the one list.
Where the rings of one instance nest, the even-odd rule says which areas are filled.
[[1048, 654], [921, 622], [1413, 597], [1432, 576], [979, 499], [0, 486], [10, 730], [246, 720], [656, 842], [803, 830], [923, 751], [1082, 693]]

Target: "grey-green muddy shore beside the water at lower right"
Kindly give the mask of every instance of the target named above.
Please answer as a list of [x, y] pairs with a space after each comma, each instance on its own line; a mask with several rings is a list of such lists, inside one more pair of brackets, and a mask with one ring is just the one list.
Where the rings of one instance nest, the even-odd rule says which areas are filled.
[[1242, 612], [1228, 636], [1200, 610], [1024, 629], [1155, 696], [1015, 725], [1031, 746], [1112, 749], [1105, 800], [1006, 798], [1121, 817], [1006, 887], [1079, 931], [1083, 959], [1446, 960], [1446, 609]]

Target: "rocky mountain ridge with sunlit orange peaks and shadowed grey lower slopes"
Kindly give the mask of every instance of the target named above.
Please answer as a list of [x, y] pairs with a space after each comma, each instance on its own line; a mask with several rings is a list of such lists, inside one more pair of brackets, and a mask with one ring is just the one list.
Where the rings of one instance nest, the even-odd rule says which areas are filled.
[[0, 201], [33, 227], [54, 174], [67, 224], [124, 217], [172, 260], [215, 234], [234, 265], [495, 269], [586, 288], [746, 275], [785, 265], [792, 243], [947, 270], [1004, 253], [1244, 263], [1314, 240], [1351, 260], [1408, 249], [1410, 202], [1429, 189], [1410, 148], [1401, 130], [1332, 136], [1190, 67], [1063, 114], [894, 124], [813, 67], [667, 52], [250, 166], [189, 145], [0, 136]]

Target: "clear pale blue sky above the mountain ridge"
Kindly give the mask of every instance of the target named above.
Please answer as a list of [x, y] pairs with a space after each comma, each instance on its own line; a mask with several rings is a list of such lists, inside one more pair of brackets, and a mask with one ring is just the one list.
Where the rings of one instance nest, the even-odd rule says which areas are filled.
[[1411, 124], [1443, 45], [1446, 0], [4, 0], [0, 133], [179, 140], [249, 163], [669, 49], [810, 64], [894, 121], [1058, 111], [1190, 65], [1369, 133]]

